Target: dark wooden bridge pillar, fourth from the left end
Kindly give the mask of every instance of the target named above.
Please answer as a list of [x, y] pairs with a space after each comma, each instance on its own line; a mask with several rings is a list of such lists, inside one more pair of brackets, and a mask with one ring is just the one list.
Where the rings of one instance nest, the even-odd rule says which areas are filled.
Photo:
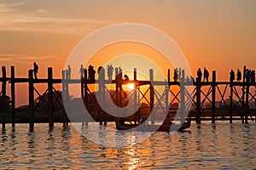
[[53, 108], [53, 74], [52, 67], [48, 68], [48, 105], [49, 105], [49, 127], [54, 127], [54, 108]]

